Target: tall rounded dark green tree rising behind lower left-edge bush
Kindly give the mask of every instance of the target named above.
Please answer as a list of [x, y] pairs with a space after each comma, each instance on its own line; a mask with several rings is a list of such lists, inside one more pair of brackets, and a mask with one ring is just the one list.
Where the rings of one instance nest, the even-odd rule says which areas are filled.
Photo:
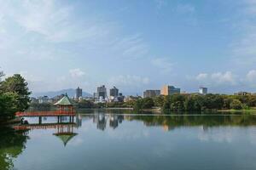
[[26, 80], [20, 74], [15, 74], [1, 82], [0, 92], [3, 94], [13, 93], [18, 95], [16, 102], [18, 111], [25, 111], [29, 107], [29, 95], [31, 92], [28, 90]]

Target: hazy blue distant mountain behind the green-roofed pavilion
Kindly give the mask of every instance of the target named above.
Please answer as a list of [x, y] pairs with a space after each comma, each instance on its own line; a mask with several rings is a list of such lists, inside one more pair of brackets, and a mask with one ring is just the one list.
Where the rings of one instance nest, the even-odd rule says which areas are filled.
[[[68, 89], [63, 89], [60, 91], [54, 91], [54, 92], [40, 92], [40, 93], [32, 93], [31, 96], [32, 97], [39, 97], [39, 96], [48, 96], [49, 98], [53, 98], [56, 95], [60, 95], [60, 94], [67, 94], [69, 97], [74, 97], [75, 96], [75, 92], [76, 90], [73, 88], [68, 88]], [[87, 93], [87, 92], [83, 92], [83, 97], [90, 97], [92, 96], [91, 94]]]

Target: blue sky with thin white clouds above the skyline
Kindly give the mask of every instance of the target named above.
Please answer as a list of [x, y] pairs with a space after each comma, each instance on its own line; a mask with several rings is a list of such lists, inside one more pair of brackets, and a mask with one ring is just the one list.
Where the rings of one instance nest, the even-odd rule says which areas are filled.
[[0, 0], [0, 69], [32, 92], [256, 92], [256, 0]]

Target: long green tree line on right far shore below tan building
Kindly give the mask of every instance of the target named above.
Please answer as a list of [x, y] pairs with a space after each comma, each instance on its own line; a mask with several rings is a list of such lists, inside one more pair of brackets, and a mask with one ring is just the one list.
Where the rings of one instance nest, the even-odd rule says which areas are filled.
[[212, 111], [212, 110], [247, 110], [256, 106], [256, 95], [225, 94], [173, 94], [154, 98], [137, 99], [133, 108], [136, 110], [160, 107], [164, 111]]

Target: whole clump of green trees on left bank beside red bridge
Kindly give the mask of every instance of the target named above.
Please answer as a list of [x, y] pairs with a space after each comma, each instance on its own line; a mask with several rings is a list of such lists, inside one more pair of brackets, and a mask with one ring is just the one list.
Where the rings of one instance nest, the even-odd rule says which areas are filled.
[[25, 111], [29, 107], [31, 92], [26, 80], [15, 74], [4, 81], [3, 71], [0, 71], [0, 122], [15, 117], [16, 111]]

